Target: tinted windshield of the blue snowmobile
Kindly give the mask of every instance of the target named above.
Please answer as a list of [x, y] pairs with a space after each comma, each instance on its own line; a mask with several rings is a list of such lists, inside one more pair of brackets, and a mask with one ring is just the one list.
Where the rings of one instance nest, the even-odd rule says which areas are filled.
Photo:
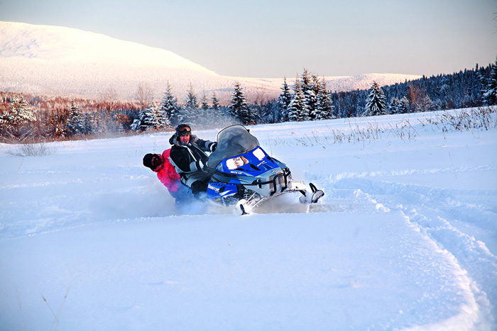
[[259, 141], [242, 125], [231, 125], [217, 134], [217, 147], [209, 156], [207, 165], [215, 168], [223, 159], [250, 152]]

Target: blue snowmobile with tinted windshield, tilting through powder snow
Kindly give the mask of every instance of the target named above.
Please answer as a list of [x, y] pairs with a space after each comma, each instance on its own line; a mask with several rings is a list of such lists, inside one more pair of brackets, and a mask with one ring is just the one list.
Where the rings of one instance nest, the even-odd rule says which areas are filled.
[[317, 203], [324, 192], [312, 183], [293, 181], [290, 169], [269, 156], [243, 125], [231, 125], [217, 135], [217, 148], [207, 166], [214, 169], [207, 197], [248, 214], [263, 201], [297, 192], [301, 203]]

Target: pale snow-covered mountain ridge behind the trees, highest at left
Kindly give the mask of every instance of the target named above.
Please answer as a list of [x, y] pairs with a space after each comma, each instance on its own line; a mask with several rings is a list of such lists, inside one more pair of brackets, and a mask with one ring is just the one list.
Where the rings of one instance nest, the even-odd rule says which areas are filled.
[[[283, 84], [283, 77], [220, 76], [168, 50], [99, 33], [26, 23], [0, 22], [0, 58], [1, 90], [89, 99], [109, 91], [119, 99], [131, 99], [138, 84], [148, 85], [160, 98], [169, 82], [180, 101], [190, 84], [199, 94], [205, 91], [210, 96], [216, 91], [218, 98], [226, 101], [238, 81], [250, 101], [278, 96]], [[416, 78], [419, 76], [408, 74], [325, 77], [331, 91], [367, 89], [373, 80], [383, 86]], [[289, 84], [293, 80], [288, 77]]]

